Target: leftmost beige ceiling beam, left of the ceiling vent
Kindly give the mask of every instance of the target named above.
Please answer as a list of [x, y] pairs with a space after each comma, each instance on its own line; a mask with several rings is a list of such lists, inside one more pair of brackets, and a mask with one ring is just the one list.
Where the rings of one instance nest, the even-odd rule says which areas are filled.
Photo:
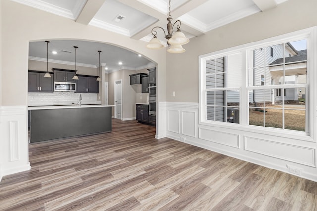
[[76, 22], [88, 25], [106, 0], [87, 0]]

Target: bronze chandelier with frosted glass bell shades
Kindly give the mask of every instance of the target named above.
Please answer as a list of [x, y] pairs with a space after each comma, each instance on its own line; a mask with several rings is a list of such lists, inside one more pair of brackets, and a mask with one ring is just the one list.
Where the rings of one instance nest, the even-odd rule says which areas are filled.
[[[157, 38], [157, 31], [155, 29], [159, 28], [164, 31], [165, 38], [167, 39], [167, 45], [169, 53], [183, 53], [185, 52], [185, 49], [182, 47], [182, 45], [187, 44], [189, 42], [189, 39], [185, 37], [184, 33], [180, 31], [180, 20], [175, 21], [174, 24], [172, 24], [172, 16], [170, 15], [170, 0], [169, 0], [169, 10], [168, 10], [168, 17], [167, 17], [167, 35], [165, 30], [160, 26], [155, 26], [152, 28], [151, 33], [153, 35], [153, 38], [150, 40], [150, 42], [147, 44], [147, 48], [150, 49], [160, 49], [164, 47], [164, 45], [160, 42], [160, 40]], [[173, 31], [173, 28], [176, 25], [176, 32]], [[174, 33], [175, 32], [175, 33]]]

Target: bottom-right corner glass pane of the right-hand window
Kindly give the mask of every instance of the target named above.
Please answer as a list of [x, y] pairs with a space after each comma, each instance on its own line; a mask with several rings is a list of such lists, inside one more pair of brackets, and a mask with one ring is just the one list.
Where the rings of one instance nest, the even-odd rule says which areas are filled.
[[[305, 107], [304, 107], [305, 108]], [[285, 129], [305, 131], [305, 110], [285, 109]]]

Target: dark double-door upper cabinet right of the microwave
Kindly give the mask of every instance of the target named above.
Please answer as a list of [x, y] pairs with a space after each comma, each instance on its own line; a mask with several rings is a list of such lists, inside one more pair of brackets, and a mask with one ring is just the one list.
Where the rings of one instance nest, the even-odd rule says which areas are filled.
[[96, 81], [97, 76], [77, 75], [76, 92], [77, 93], [98, 93], [99, 83]]

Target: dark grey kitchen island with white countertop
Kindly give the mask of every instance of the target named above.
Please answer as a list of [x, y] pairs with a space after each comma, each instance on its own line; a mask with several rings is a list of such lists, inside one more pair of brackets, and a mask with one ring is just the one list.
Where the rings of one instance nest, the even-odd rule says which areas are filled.
[[30, 106], [30, 142], [112, 131], [113, 105]]

